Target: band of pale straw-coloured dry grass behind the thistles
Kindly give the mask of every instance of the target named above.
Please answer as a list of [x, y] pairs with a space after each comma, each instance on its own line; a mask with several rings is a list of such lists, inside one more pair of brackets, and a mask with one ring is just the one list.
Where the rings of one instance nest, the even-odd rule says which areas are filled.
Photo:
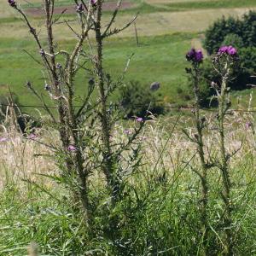
[[[207, 115], [206, 155], [218, 157], [217, 125], [214, 124], [216, 113]], [[249, 113], [231, 112], [226, 119], [226, 141], [228, 151], [234, 154], [231, 167], [236, 167], [247, 154], [255, 154], [255, 137]], [[193, 158], [191, 164], [197, 164], [195, 156], [195, 143], [189, 142], [182, 129], [193, 135], [191, 128], [192, 118], [184, 113], [177, 121], [177, 114], [170, 117], [148, 120], [143, 135], [139, 137], [143, 143], [143, 168], [155, 169], [155, 172], [166, 170], [172, 175], [173, 170], [185, 165]], [[177, 122], [177, 125], [175, 125]], [[131, 126], [133, 124], [131, 123]], [[174, 127], [175, 126], [175, 127]], [[127, 135], [125, 130], [129, 124], [119, 124], [114, 130], [113, 137], [119, 142], [124, 142]], [[173, 130], [173, 131], [172, 131]], [[172, 131], [172, 134], [171, 134]], [[58, 139], [54, 131], [44, 129], [36, 131], [37, 137], [26, 137], [20, 134], [15, 127], [1, 126], [0, 137], [0, 188], [9, 183], [20, 183], [21, 179], [32, 180], [45, 178], [38, 173], [49, 174], [58, 172], [51, 156], [51, 149], [47, 145], [57, 146]], [[237, 152], [236, 152], [237, 151]], [[236, 152], [236, 154], [235, 154]], [[47, 179], [45, 180], [47, 181]], [[22, 186], [23, 186], [22, 185]]]

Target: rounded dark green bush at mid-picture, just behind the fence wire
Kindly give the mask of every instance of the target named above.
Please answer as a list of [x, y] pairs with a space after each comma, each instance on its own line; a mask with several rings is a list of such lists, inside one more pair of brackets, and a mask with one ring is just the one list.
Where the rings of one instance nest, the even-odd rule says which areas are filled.
[[164, 113], [164, 108], [157, 101], [155, 93], [143, 86], [138, 81], [131, 81], [120, 91], [120, 104], [124, 111], [125, 119], [131, 117], [147, 117], [148, 111], [154, 115]]

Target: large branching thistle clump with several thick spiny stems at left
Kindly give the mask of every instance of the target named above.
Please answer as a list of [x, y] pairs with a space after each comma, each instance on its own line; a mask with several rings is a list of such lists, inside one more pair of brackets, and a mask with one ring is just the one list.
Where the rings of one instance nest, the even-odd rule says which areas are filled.
[[[119, 105], [109, 101], [113, 92], [123, 84], [123, 79], [129, 65], [124, 68], [117, 80], [103, 68], [103, 42], [107, 38], [131, 26], [137, 16], [121, 28], [112, 28], [118, 15], [121, 0], [107, 26], [102, 27], [102, 0], [90, 0], [81, 3], [74, 0], [77, 12], [79, 32], [65, 20], [74, 35], [76, 43], [71, 51], [59, 49], [54, 37], [54, 26], [63, 18], [55, 15], [55, 0], [44, 0], [44, 20], [47, 41], [44, 42], [39, 32], [32, 26], [32, 22], [15, 0], [9, 0], [9, 5], [20, 13], [32, 38], [38, 46], [38, 55], [44, 73], [44, 89], [49, 97], [35, 89], [32, 82], [27, 87], [43, 103], [49, 114], [50, 127], [55, 128], [60, 135], [61, 146], [50, 143], [55, 153], [56, 164], [61, 169], [61, 177], [53, 176], [58, 182], [73, 192], [73, 199], [81, 203], [86, 224], [90, 224], [93, 215], [93, 204], [90, 201], [89, 177], [101, 170], [105, 176], [107, 189], [111, 198], [111, 207], [121, 200], [125, 188], [125, 177], [137, 169], [140, 161], [137, 136], [142, 131], [142, 122], [136, 125], [123, 143], [115, 143], [113, 127], [119, 121]], [[94, 34], [96, 46], [93, 47], [89, 33]], [[47, 47], [44, 48], [45, 43]], [[33, 58], [35, 60], [35, 58]], [[90, 79], [85, 86], [84, 96], [78, 96], [75, 78], [79, 73], [86, 73]], [[86, 84], [86, 80], [84, 81]], [[50, 102], [50, 107], [47, 102]], [[53, 111], [52, 105], [57, 112]], [[79, 105], [79, 106], [77, 106]], [[129, 152], [129, 153], [126, 153]], [[124, 154], [128, 154], [126, 160]]]

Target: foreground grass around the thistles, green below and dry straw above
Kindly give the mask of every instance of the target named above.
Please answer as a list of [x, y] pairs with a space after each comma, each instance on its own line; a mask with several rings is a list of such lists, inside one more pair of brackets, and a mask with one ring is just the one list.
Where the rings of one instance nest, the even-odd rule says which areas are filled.
[[[242, 142], [241, 150], [230, 161], [232, 198], [236, 204], [232, 227], [237, 234], [236, 255], [253, 255], [256, 249], [254, 138], [252, 130], [244, 133], [248, 118], [251, 116], [235, 113], [225, 122], [229, 151], [233, 152]], [[176, 117], [170, 117], [148, 121], [146, 139], [143, 140], [143, 166], [127, 180], [131, 190], [127, 190], [127, 193], [130, 191], [127, 197], [113, 212], [108, 213], [105, 207], [108, 198], [104, 197], [103, 191], [99, 194], [102, 178], [96, 174], [92, 177], [99, 185], [91, 187], [91, 199], [97, 201], [100, 197], [102, 201], [95, 212], [93, 237], [82, 224], [83, 215], [73, 210], [67, 190], [61, 184], [37, 175], [58, 174], [51, 158], [33, 157], [38, 153], [51, 154], [43, 143], [55, 137], [55, 133], [44, 129], [38, 131], [39, 144], [26, 140], [11, 130], [11, 126], [6, 126], [7, 131], [0, 135], [9, 138], [9, 141], [0, 143], [4, 153], [0, 156], [0, 254], [26, 255], [27, 245], [36, 241], [42, 255], [202, 255], [199, 180], [187, 164], [195, 154], [195, 148], [181, 131], [186, 125], [191, 129], [188, 116], [181, 117], [168, 140], [175, 120]], [[214, 113], [207, 114], [207, 120], [212, 124]], [[212, 154], [218, 154], [217, 138], [210, 126], [207, 134], [207, 147], [211, 148]], [[114, 139], [125, 139], [122, 124], [116, 126]], [[58, 144], [56, 140], [52, 143]], [[192, 158], [189, 163], [196, 167], [199, 160]], [[212, 255], [221, 254], [224, 239], [219, 225], [221, 183], [216, 171], [213, 169], [209, 173]], [[33, 183], [21, 181], [21, 178], [31, 179]], [[108, 234], [107, 221], [112, 214], [118, 214], [120, 219], [120, 233], [115, 235], [116, 240]]]

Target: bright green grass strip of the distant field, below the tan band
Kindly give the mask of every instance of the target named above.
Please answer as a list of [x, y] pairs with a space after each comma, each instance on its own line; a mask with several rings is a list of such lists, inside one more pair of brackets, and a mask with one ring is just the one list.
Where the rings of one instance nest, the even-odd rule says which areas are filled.
[[[197, 35], [198, 36], [198, 35]], [[140, 38], [140, 46], [136, 46], [134, 38], [116, 38], [106, 42], [105, 67], [108, 72], [116, 78], [125, 69], [126, 61], [132, 53], [129, 72], [125, 81], [137, 80], [148, 86], [154, 81], [160, 81], [160, 100], [176, 102], [177, 87], [183, 86], [186, 81], [183, 71], [186, 62], [184, 53], [189, 49], [192, 38], [195, 34], [177, 33], [173, 35]], [[9, 84], [12, 91], [19, 96], [21, 104], [36, 104], [26, 90], [26, 81], [32, 81], [35, 87], [44, 91], [44, 79], [36, 62], [22, 49], [37, 54], [32, 41], [18, 41], [5, 39], [0, 47], [0, 76]], [[62, 42], [60, 47], [71, 49], [73, 41]], [[13, 75], [15, 74], [15, 75]], [[77, 93], [84, 92], [84, 84], [89, 78], [86, 74], [79, 75]], [[7, 92], [8, 88], [3, 87], [2, 91]], [[29, 102], [27, 97], [29, 95]]]

